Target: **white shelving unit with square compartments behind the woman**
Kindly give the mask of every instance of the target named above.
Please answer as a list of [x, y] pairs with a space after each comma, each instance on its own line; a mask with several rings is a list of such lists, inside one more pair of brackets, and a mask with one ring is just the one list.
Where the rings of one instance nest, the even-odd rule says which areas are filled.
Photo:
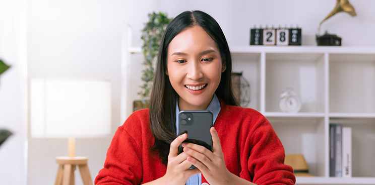
[[[137, 98], [135, 65], [143, 57], [131, 47], [125, 26], [122, 41], [121, 120]], [[251, 84], [249, 108], [273, 125], [285, 153], [302, 153], [309, 172], [296, 184], [375, 184], [375, 47], [232, 46], [233, 71]], [[139, 77], [140, 78], [140, 77]], [[299, 113], [278, 109], [281, 91], [293, 88]], [[352, 127], [352, 178], [329, 177], [329, 124]]]

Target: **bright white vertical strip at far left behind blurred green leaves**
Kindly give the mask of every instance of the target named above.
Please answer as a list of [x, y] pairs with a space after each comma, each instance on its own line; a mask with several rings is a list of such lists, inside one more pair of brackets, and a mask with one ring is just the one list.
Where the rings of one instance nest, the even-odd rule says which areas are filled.
[[13, 135], [0, 146], [1, 184], [26, 184], [27, 63], [23, 0], [0, 0], [0, 58], [11, 65], [0, 76], [0, 129]]

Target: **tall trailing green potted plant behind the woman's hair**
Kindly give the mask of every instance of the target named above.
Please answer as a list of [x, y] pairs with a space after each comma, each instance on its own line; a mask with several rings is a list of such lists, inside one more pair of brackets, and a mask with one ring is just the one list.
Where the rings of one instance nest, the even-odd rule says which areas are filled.
[[142, 53], [144, 55], [143, 65], [145, 69], [142, 70], [141, 100], [134, 101], [133, 111], [148, 108], [150, 99], [151, 87], [154, 81], [154, 63], [158, 55], [159, 46], [163, 37], [164, 31], [172, 19], [167, 17], [166, 13], [153, 12], [148, 15], [149, 22], [145, 23], [142, 30], [141, 39], [143, 40]]

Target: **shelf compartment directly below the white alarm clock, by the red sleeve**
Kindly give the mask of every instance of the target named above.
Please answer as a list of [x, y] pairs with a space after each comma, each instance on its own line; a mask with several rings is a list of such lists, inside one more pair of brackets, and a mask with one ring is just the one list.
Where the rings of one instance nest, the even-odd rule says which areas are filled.
[[286, 115], [266, 116], [283, 143], [285, 154], [303, 154], [309, 173], [325, 176], [324, 115], [310, 114], [310, 117], [286, 117]]

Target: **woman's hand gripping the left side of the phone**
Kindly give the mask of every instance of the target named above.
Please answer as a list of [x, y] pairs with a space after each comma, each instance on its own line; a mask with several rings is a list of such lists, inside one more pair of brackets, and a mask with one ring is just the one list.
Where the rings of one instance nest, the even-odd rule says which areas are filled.
[[189, 169], [192, 165], [190, 161], [186, 160], [189, 154], [186, 154], [186, 152], [178, 154], [178, 146], [187, 137], [187, 134], [182, 134], [170, 143], [167, 172], [159, 179], [162, 182], [161, 184], [183, 185], [190, 176], [201, 173], [198, 168]]

